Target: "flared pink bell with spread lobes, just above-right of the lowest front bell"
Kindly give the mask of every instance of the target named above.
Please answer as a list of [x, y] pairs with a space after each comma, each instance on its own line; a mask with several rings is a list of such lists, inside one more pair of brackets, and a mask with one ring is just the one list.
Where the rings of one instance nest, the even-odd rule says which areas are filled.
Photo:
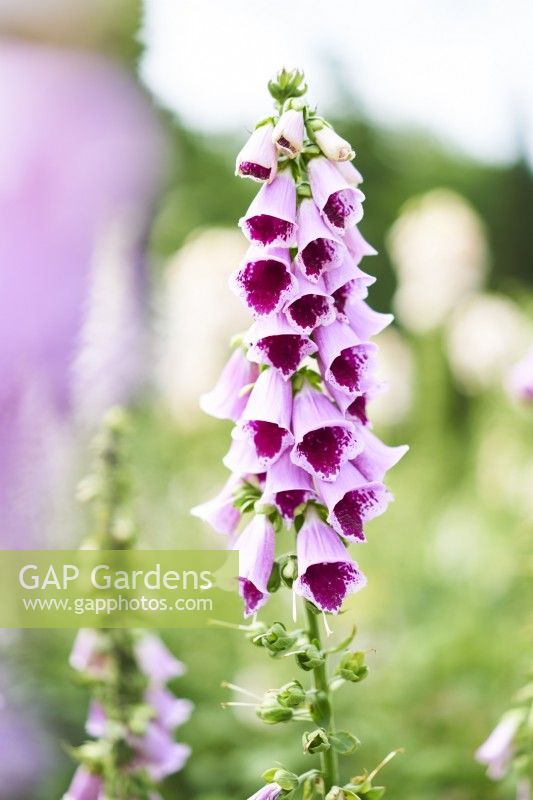
[[363, 525], [383, 514], [392, 500], [383, 483], [367, 481], [350, 463], [344, 464], [334, 483], [317, 483], [329, 524], [346, 539], [366, 541]]

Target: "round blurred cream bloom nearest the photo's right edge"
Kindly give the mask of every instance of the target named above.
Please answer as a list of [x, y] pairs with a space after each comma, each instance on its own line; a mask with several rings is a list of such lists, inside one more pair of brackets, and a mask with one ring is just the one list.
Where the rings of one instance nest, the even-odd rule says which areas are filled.
[[527, 320], [512, 300], [479, 294], [464, 300], [453, 312], [446, 351], [457, 382], [475, 393], [501, 385], [530, 341]]

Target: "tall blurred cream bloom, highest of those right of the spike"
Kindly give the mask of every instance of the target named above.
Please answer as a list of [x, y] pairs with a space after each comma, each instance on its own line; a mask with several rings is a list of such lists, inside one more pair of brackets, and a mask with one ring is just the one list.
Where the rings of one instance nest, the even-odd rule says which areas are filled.
[[398, 276], [394, 307], [415, 333], [441, 325], [487, 271], [483, 223], [456, 192], [435, 189], [409, 200], [392, 226], [388, 248]]

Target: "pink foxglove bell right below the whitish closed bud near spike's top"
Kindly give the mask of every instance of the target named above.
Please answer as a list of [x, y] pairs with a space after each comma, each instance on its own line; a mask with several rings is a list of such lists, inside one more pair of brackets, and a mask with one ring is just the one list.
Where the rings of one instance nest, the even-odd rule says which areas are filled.
[[313, 158], [309, 162], [309, 180], [314, 201], [332, 230], [342, 234], [361, 220], [364, 194], [346, 183], [331, 161]]

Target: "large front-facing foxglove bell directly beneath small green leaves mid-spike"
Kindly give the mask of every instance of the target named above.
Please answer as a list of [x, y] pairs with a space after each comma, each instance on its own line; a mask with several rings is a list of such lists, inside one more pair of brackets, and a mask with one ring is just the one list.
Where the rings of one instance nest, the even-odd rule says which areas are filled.
[[362, 449], [353, 423], [309, 386], [294, 398], [293, 431], [293, 462], [325, 481], [334, 481], [342, 465]]

